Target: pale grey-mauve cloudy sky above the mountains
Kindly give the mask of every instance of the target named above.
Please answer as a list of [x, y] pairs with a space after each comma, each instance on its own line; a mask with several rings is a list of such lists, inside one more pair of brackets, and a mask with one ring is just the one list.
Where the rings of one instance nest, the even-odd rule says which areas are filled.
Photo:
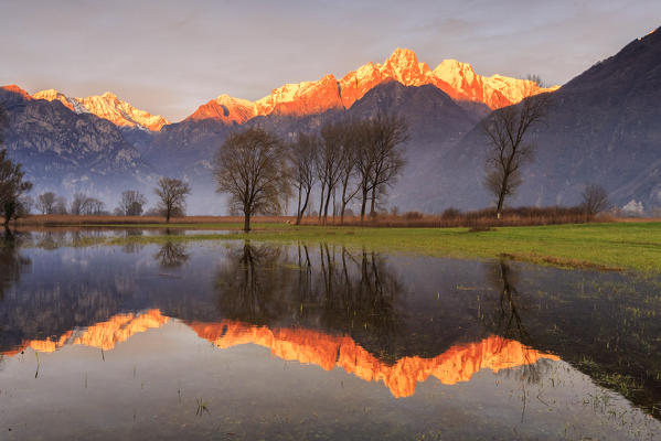
[[110, 90], [178, 121], [221, 94], [338, 78], [396, 47], [562, 85], [661, 25], [661, 1], [0, 0], [0, 85]]

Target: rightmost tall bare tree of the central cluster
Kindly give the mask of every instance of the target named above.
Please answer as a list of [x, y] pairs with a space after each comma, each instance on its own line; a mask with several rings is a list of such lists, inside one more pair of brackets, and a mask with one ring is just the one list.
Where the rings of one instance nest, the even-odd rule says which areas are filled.
[[362, 192], [363, 220], [367, 200], [371, 200], [370, 215], [374, 216], [377, 198], [386, 194], [385, 189], [396, 182], [406, 164], [399, 147], [408, 139], [408, 125], [396, 115], [379, 114], [360, 127], [354, 126], [354, 130], [361, 137], [355, 166]]

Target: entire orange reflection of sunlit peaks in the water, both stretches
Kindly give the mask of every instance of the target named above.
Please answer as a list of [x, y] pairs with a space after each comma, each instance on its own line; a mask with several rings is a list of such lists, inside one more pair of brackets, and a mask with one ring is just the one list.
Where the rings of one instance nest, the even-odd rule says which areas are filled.
[[[0, 355], [12, 356], [26, 347], [50, 353], [65, 345], [84, 345], [113, 349], [117, 344], [149, 329], [168, 322], [159, 310], [125, 313], [85, 329], [71, 330], [58, 337], [33, 340]], [[275, 329], [224, 320], [220, 323], [191, 322], [188, 325], [201, 337], [220, 348], [242, 344], [256, 344], [271, 354], [302, 364], [317, 365], [326, 370], [344, 369], [365, 381], [382, 381], [393, 396], [409, 397], [417, 383], [435, 377], [445, 385], [468, 381], [481, 369], [499, 372], [519, 366], [531, 366], [541, 358], [558, 359], [523, 346], [521, 343], [492, 335], [480, 342], [451, 346], [433, 358], [407, 356], [387, 363], [365, 351], [347, 335], [329, 335], [307, 329]]]

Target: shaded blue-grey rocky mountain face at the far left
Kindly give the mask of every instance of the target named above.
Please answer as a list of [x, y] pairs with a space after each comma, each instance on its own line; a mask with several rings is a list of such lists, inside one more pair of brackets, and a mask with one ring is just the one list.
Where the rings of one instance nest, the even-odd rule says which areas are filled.
[[34, 99], [18, 86], [0, 88], [0, 106], [8, 114], [6, 147], [38, 192], [104, 194], [119, 181], [149, 180], [152, 170], [110, 121], [78, 115], [58, 100]]

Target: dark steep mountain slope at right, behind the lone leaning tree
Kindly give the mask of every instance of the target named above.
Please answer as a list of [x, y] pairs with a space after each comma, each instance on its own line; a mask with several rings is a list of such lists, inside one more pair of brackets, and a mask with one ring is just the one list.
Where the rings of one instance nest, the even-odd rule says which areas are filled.
[[[575, 204], [587, 183], [604, 185], [619, 206], [661, 206], [661, 31], [638, 39], [552, 95], [547, 121], [532, 135], [539, 148], [512, 205]], [[479, 128], [439, 164], [433, 205], [481, 207], [487, 144]]]

